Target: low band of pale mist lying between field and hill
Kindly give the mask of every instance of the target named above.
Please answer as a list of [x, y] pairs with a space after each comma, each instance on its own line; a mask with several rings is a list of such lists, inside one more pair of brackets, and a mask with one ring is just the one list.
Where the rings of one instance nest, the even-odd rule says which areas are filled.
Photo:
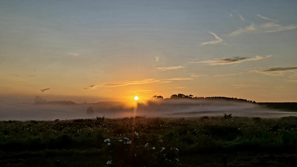
[[[86, 111], [92, 107], [94, 113]], [[98, 102], [89, 104], [0, 103], [0, 120], [68, 120], [77, 118], [121, 118], [136, 115], [146, 117], [223, 116], [286, 117], [297, 112], [270, 109], [251, 102], [230, 100], [149, 100], [144, 102]]]

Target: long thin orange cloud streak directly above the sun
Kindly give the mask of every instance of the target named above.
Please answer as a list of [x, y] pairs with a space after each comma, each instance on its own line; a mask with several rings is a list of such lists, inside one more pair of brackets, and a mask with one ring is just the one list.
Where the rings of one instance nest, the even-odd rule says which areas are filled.
[[185, 78], [185, 77], [178, 77], [178, 78], [170, 78], [170, 79], [143, 79], [139, 81], [119, 81], [119, 82], [111, 82], [111, 83], [104, 83], [101, 85], [91, 85], [87, 88], [83, 89], [96, 89], [96, 88], [114, 88], [119, 86], [127, 86], [127, 85], [140, 85], [140, 84], [149, 84], [149, 83], [170, 83], [172, 81], [180, 81], [180, 80], [192, 80], [193, 78]]

